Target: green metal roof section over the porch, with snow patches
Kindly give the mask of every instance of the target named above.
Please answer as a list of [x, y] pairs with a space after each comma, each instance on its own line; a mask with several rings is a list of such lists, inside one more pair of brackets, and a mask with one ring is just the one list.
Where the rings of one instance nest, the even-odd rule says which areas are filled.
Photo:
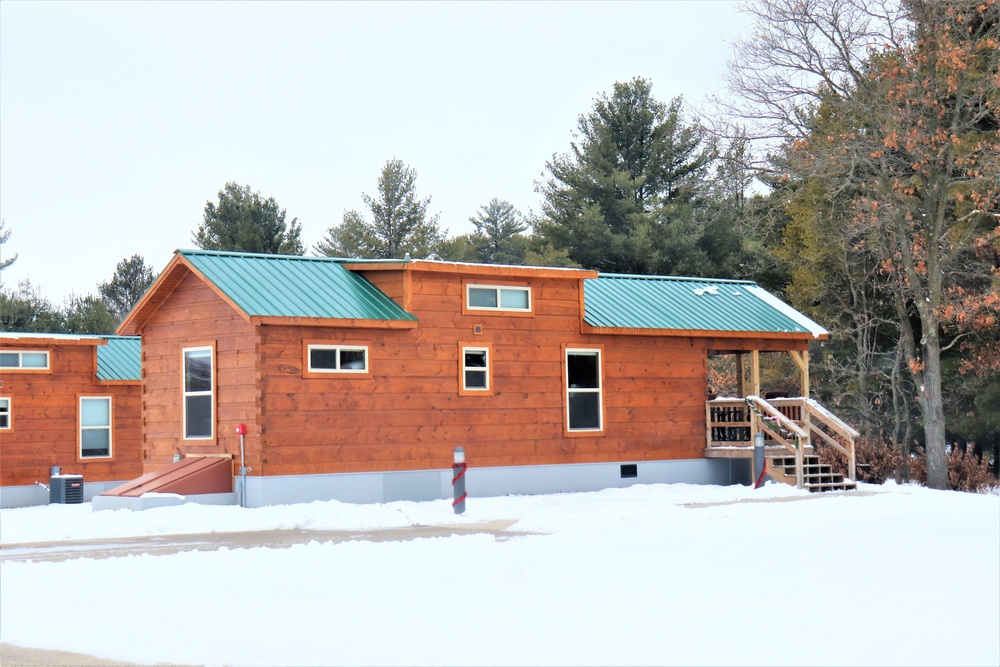
[[826, 329], [745, 280], [600, 275], [583, 281], [595, 327], [826, 335]]

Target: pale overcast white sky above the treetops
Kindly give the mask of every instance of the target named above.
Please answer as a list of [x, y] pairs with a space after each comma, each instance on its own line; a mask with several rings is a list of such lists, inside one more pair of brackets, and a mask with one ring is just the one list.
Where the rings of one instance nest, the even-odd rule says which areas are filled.
[[598, 94], [643, 76], [700, 104], [744, 24], [728, 0], [4, 0], [0, 279], [61, 305], [134, 253], [159, 271], [230, 180], [311, 249], [393, 157], [449, 235], [492, 197], [537, 211]]

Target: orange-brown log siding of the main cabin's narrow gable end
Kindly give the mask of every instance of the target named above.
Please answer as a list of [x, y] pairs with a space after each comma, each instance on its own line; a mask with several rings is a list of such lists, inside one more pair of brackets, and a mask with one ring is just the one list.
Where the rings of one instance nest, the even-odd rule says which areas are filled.
[[[240, 423], [248, 426], [247, 453], [257, 452], [255, 326], [193, 273], [160, 299], [152, 304], [156, 310], [142, 328], [144, 470], [162, 468], [175, 454], [234, 454], [238, 459]], [[185, 440], [181, 351], [205, 345], [215, 350], [214, 437]], [[255, 462], [259, 460], [248, 456], [247, 465]]]

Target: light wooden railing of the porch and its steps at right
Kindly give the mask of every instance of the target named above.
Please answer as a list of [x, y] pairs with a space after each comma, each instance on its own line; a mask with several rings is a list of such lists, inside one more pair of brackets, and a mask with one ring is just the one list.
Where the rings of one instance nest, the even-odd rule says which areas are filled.
[[745, 454], [737, 456], [752, 456], [753, 434], [764, 433], [766, 445], [782, 446], [795, 454], [801, 486], [803, 452], [817, 442], [843, 452], [848, 459], [847, 475], [857, 481], [854, 444], [858, 432], [812, 399], [717, 398], [705, 403], [705, 419], [709, 450], [743, 450]]

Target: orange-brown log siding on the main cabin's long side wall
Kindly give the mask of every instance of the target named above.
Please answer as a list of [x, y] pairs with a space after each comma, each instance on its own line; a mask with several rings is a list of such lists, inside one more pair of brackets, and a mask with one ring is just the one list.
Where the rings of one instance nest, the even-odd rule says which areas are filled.
[[[367, 275], [408, 300], [419, 327], [261, 327], [266, 426], [254, 474], [447, 468], [456, 446], [475, 466], [703, 456], [704, 341], [581, 334], [577, 276], [531, 278], [525, 317], [462, 314], [461, 278], [504, 284], [495, 275]], [[304, 378], [305, 341], [367, 346], [370, 376]], [[492, 395], [459, 395], [458, 342], [490, 345]], [[564, 436], [565, 344], [604, 349], [603, 433]]]

